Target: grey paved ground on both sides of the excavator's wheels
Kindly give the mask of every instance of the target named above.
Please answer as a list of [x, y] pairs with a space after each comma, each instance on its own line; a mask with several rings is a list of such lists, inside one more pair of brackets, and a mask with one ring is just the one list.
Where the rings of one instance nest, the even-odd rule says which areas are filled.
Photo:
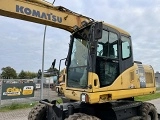
[[[149, 102], [153, 103], [158, 113], [160, 113], [160, 99], [151, 100]], [[27, 120], [28, 113], [31, 109], [14, 110], [10, 112], [0, 112], [0, 120]]]

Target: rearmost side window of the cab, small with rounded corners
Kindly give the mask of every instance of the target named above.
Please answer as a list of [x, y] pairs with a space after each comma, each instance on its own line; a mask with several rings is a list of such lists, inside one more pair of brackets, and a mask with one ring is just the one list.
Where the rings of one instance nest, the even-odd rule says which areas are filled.
[[131, 41], [125, 36], [121, 36], [122, 40], [122, 59], [129, 58], [131, 56]]

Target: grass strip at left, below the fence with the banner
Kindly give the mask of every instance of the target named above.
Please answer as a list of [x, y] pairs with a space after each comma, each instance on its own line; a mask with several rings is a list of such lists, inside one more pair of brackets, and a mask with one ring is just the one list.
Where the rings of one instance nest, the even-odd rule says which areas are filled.
[[7, 112], [10, 110], [16, 110], [16, 109], [31, 108], [31, 107], [34, 107], [36, 104], [37, 104], [37, 102], [34, 102], [34, 103], [12, 103], [11, 105], [1, 107], [0, 112]]

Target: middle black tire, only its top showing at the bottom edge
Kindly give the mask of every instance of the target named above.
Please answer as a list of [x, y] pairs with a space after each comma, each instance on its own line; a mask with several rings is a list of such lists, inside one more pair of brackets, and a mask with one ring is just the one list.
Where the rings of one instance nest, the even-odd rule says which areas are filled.
[[65, 120], [100, 120], [99, 118], [84, 113], [74, 113]]

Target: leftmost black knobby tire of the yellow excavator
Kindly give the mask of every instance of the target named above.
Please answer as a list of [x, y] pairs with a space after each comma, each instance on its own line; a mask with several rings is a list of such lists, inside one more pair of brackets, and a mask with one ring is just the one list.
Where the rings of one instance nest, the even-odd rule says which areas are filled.
[[46, 120], [46, 111], [46, 106], [39, 103], [29, 112], [28, 120]]

